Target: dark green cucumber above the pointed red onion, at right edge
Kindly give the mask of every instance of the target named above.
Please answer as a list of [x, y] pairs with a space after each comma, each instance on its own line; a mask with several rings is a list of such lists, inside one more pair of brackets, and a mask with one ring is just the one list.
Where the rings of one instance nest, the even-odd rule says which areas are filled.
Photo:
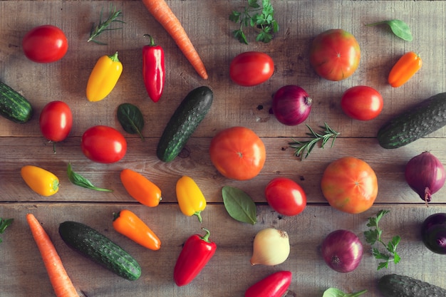
[[446, 93], [440, 93], [385, 123], [378, 130], [378, 142], [385, 149], [402, 147], [445, 125]]

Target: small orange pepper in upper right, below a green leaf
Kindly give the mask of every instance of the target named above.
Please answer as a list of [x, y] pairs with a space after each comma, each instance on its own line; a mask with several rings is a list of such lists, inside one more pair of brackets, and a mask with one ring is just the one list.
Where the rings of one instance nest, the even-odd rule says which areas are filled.
[[393, 88], [404, 85], [408, 80], [420, 70], [422, 60], [418, 54], [410, 51], [405, 53], [393, 66], [389, 73], [388, 82]]

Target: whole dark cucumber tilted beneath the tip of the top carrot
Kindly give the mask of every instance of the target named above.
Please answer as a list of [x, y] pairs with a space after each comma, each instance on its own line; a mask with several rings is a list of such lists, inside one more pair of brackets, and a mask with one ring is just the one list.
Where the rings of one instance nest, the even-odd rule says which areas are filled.
[[187, 94], [162, 132], [157, 146], [158, 159], [170, 162], [180, 154], [211, 108], [213, 98], [214, 93], [206, 86], [195, 88]]

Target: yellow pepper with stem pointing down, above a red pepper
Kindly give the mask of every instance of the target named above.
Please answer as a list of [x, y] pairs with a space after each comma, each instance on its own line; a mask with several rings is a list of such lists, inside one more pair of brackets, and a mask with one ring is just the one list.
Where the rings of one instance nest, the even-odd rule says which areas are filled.
[[183, 214], [198, 217], [202, 222], [201, 212], [206, 208], [206, 199], [195, 181], [187, 176], [181, 177], [177, 181], [177, 200]]

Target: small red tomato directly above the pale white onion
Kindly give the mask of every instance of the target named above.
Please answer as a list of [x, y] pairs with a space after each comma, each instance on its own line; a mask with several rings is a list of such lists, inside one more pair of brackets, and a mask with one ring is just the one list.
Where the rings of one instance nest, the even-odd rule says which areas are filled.
[[266, 185], [266, 201], [279, 214], [295, 216], [306, 207], [304, 189], [296, 182], [286, 177], [276, 177]]

